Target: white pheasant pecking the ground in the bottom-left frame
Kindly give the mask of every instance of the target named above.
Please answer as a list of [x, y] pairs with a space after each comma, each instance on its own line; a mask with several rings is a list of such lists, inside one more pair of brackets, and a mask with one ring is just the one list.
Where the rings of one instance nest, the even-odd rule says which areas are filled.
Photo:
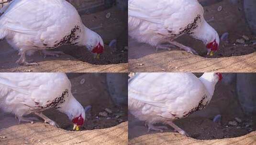
[[55, 108], [67, 114], [74, 129], [84, 124], [85, 110], [71, 93], [65, 73], [0, 73], [0, 108], [15, 114], [20, 122], [31, 122], [24, 115], [36, 114], [53, 126], [58, 125], [42, 114]]

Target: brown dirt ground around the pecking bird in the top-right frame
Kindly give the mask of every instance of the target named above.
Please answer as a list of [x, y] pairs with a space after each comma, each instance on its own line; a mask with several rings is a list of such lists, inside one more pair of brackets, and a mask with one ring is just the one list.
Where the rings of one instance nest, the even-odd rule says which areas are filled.
[[[129, 38], [129, 70], [131, 72], [256, 72], [256, 36], [249, 30], [244, 16], [242, 0], [230, 4], [223, 0], [204, 7], [205, 19], [221, 34], [228, 32], [227, 41], [221, 41], [220, 49], [211, 58], [201, 41], [182, 36], [178, 42], [194, 48], [197, 55], [177, 48], [155, 51], [155, 48]], [[217, 11], [222, 6], [221, 11]], [[245, 35], [244, 44], [236, 42]]]

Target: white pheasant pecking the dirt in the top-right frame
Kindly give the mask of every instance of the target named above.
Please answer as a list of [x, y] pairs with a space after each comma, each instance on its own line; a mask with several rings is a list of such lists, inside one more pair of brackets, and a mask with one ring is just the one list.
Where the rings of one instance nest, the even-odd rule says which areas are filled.
[[203, 8], [197, 0], [128, 0], [128, 5], [129, 35], [137, 41], [155, 46], [156, 50], [175, 45], [197, 54], [192, 48], [174, 41], [188, 34], [206, 45], [207, 54], [213, 55], [218, 50], [219, 35], [205, 21]]

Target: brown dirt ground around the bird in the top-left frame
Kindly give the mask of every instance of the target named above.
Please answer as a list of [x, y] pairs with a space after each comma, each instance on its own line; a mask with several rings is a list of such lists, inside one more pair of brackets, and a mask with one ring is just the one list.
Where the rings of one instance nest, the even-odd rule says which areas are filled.
[[[110, 13], [109, 19], [106, 14]], [[93, 59], [85, 47], [62, 46], [54, 51], [63, 51], [65, 55], [44, 58], [40, 52], [28, 56], [27, 60], [38, 62], [39, 66], [21, 66], [18, 52], [6, 41], [1, 41], [0, 72], [127, 72], [127, 13], [112, 7], [97, 13], [81, 16], [84, 24], [100, 34], [105, 43], [105, 51], [100, 60]], [[88, 21], [89, 20], [89, 21]], [[111, 40], [117, 40], [116, 48], [108, 47]]]

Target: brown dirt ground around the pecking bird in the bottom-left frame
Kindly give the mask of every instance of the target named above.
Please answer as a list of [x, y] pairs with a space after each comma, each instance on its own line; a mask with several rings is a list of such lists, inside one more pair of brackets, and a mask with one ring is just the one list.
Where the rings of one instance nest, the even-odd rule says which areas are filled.
[[[44, 114], [56, 121], [60, 128], [44, 124], [42, 119], [35, 121], [34, 124], [22, 123], [18, 125], [18, 121], [15, 119], [14, 115], [0, 111], [0, 136], [7, 137], [0, 138], [1, 145], [14, 145], [15, 141], [16, 143], [19, 141], [22, 143], [28, 142], [33, 145], [45, 145], [46, 143], [61, 144], [61, 141], [67, 143], [67, 145], [81, 142], [92, 145], [103, 142], [104, 140], [106, 141], [105, 144], [127, 145], [128, 108], [127, 105], [116, 106], [112, 103], [105, 81], [106, 74], [68, 73], [67, 75], [72, 84], [71, 91], [78, 102], [84, 107], [91, 105], [91, 109], [86, 114], [87, 119], [84, 126], [81, 127], [81, 131], [72, 131], [73, 124], [69, 121], [67, 115], [54, 109], [47, 110]], [[86, 80], [83, 84], [80, 83], [82, 79]], [[107, 114], [107, 116], [100, 116], [99, 113], [105, 112], [104, 110], [106, 108], [110, 109], [112, 113]], [[23, 131], [21, 132], [20, 130]], [[33, 133], [32, 136], [31, 132]], [[46, 136], [48, 136], [48, 138], [46, 138]], [[65, 136], [70, 140], [67, 140]], [[77, 136], [77, 138], [75, 136]], [[92, 139], [92, 137], [94, 138]], [[41, 140], [42, 142], [39, 144], [37, 140]]]

